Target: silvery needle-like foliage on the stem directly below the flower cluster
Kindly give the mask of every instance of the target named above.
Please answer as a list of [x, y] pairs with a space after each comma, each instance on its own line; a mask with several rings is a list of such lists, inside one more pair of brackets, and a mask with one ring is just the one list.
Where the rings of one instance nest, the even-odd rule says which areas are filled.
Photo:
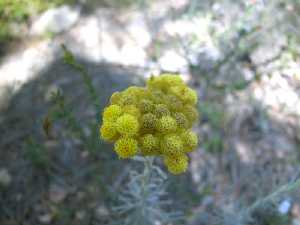
[[166, 174], [153, 164], [153, 158], [135, 157], [144, 163], [144, 171], [129, 172], [129, 181], [118, 196], [113, 211], [122, 225], [160, 225], [180, 221], [182, 214], [174, 212], [172, 201], [167, 199]]

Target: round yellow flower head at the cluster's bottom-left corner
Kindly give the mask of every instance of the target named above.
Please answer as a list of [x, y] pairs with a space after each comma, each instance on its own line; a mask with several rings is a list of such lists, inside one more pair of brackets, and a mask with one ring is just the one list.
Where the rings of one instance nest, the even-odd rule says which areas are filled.
[[137, 148], [137, 141], [129, 137], [122, 137], [115, 143], [115, 151], [122, 159], [134, 156], [137, 153]]

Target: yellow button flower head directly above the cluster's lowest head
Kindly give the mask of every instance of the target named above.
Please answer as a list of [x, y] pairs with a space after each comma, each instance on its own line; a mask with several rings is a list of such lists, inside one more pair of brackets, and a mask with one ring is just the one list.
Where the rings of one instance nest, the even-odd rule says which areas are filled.
[[178, 155], [183, 152], [182, 141], [180, 137], [176, 134], [169, 134], [164, 136], [162, 138], [160, 146], [161, 146], [162, 153], [165, 155], [170, 155], [170, 154]]

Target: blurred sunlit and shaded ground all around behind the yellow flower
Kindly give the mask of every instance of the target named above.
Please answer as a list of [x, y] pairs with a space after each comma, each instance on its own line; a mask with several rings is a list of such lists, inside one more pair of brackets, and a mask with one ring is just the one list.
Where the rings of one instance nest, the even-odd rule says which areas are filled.
[[[201, 114], [169, 210], [180, 224], [232, 224], [299, 176], [299, 28], [299, 0], [0, 0], [0, 224], [113, 222], [138, 165], [99, 140], [99, 115], [112, 92], [162, 72], [182, 74]], [[299, 225], [299, 192], [252, 217]]]

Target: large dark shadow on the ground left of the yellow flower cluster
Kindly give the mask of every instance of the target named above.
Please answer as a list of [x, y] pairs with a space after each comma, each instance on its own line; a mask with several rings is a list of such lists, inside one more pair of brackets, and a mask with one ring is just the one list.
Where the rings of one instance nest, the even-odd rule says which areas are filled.
[[[47, 220], [103, 224], [107, 220], [103, 202], [113, 198], [110, 185], [115, 187], [114, 173], [120, 172], [122, 163], [115, 163], [111, 145], [98, 138], [96, 121], [114, 91], [142, 81], [137, 71], [118, 65], [80, 63], [92, 77], [100, 108], [89, 102], [80, 74], [58, 58], [24, 84], [0, 113], [0, 168], [7, 169], [12, 178], [9, 186], [1, 187], [0, 224]], [[47, 128], [51, 134], [45, 132], [55, 90], [60, 90], [65, 106], [74, 111], [90, 145], [69, 133], [64, 121], [51, 121]]]

